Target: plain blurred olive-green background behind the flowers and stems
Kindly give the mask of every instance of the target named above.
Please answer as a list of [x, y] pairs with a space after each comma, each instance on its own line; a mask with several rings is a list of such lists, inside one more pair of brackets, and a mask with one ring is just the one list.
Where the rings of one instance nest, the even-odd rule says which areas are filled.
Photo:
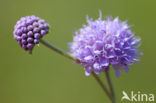
[[[92, 76], [81, 66], [42, 44], [29, 55], [13, 39], [13, 28], [22, 16], [36, 15], [51, 25], [44, 39], [68, 50], [73, 31], [107, 15], [128, 19], [142, 38], [141, 61], [114, 82], [118, 102], [122, 91], [156, 93], [156, 1], [155, 0], [0, 0], [0, 103], [109, 103]], [[100, 77], [105, 81], [104, 74]], [[123, 103], [129, 103], [124, 101]]]

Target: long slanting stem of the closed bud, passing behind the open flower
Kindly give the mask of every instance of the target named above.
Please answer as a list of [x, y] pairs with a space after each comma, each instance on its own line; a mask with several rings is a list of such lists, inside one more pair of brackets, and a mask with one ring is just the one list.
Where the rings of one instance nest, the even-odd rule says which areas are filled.
[[[49, 42], [40, 39], [40, 43], [42, 43], [43, 45], [45, 45], [46, 47], [50, 48], [51, 50], [54, 50], [56, 53], [59, 53], [60, 55], [63, 55], [65, 57], [67, 57], [68, 59], [71, 59], [73, 61], [76, 61], [77, 63], [81, 63], [80, 60], [78, 60], [77, 58], [71, 56], [69, 53], [55, 47], [54, 45], [50, 44]], [[110, 93], [108, 92], [106, 86], [102, 83], [102, 81], [100, 80], [100, 78], [98, 78], [98, 76], [95, 73], [92, 73], [93, 77], [95, 78], [95, 80], [98, 82], [98, 84], [101, 86], [101, 88], [103, 89], [103, 91], [106, 93], [106, 95], [108, 96], [108, 98], [110, 99], [110, 101], [113, 103], [113, 100], [111, 98]]]

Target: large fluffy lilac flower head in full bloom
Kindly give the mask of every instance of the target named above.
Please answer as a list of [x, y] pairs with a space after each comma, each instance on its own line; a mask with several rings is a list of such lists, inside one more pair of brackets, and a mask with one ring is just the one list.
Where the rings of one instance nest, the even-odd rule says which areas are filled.
[[128, 71], [138, 61], [140, 38], [134, 36], [126, 21], [101, 17], [101, 13], [95, 21], [87, 17], [88, 25], [75, 32], [70, 52], [81, 61], [87, 76], [91, 72], [105, 72], [112, 66], [118, 77], [119, 70]]

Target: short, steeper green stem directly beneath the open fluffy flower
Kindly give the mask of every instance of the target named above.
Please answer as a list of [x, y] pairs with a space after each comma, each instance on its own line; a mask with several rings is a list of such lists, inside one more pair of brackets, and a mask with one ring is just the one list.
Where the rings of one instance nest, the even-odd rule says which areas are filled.
[[107, 83], [108, 83], [110, 91], [111, 91], [111, 96], [113, 98], [113, 103], [117, 103], [116, 98], [115, 98], [113, 85], [112, 85], [111, 78], [110, 78], [110, 75], [109, 75], [109, 71], [106, 71], [105, 74], [106, 74], [105, 76], [106, 76], [106, 79], [107, 79]]

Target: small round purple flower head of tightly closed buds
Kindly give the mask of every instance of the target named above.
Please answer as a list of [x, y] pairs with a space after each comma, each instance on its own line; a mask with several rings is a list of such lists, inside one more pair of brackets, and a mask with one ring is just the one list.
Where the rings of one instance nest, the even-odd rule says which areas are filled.
[[19, 45], [26, 51], [32, 51], [35, 44], [39, 43], [42, 38], [49, 31], [49, 24], [43, 19], [32, 16], [22, 17], [17, 21], [14, 27], [14, 38]]

